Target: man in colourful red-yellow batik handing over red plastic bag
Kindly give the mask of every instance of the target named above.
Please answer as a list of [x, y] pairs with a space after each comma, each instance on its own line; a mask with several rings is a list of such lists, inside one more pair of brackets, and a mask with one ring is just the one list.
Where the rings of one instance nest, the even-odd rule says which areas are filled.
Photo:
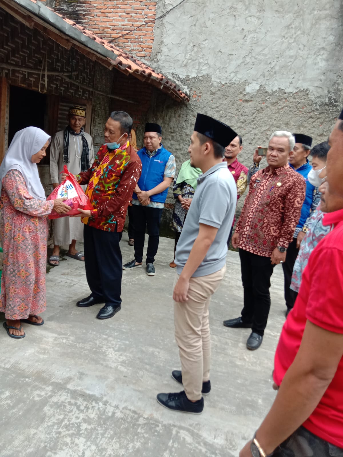
[[132, 118], [124, 111], [111, 113], [105, 125], [105, 144], [91, 168], [76, 175], [87, 184], [86, 195], [94, 209], [80, 209], [84, 226], [86, 277], [91, 295], [77, 306], [105, 303], [98, 319], [113, 317], [121, 309], [122, 237], [126, 212], [139, 180], [142, 164], [128, 141]]

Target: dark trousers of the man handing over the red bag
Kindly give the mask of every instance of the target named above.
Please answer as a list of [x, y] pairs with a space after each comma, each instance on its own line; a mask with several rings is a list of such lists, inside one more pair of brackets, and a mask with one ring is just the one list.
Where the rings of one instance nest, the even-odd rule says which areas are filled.
[[107, 305], [122, 303], [123, 263], [119, 241], [122, 232], [106, 232], [85, 225], [83, 230], [85, 267], [92, 296], [104, 298]]

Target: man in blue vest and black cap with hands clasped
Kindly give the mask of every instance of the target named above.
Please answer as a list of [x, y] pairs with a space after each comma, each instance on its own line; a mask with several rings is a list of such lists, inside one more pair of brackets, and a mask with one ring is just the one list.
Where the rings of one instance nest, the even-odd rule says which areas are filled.
[[147, 228], [149, 241], [145, 263], [148, 276], [155, 276], [154, 260], [160, 239], [161, 216], [176, 169], [175, 157], [161, 144], [161, 134], [160, 125], [150, 122], [145, 125], [144, 148], [137, 153], [142, 162], [142, 174], [132, 199], [134, 260], [123, 265], [123, 270], [133, 270], [143, 265]]

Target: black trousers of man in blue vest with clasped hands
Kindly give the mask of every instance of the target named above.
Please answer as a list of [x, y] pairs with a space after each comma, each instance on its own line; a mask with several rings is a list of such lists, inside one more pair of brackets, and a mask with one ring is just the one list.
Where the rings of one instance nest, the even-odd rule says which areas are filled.
[[163, 209], [141, 205], [132, 205], [132, 209], [134, 215], [134, 258], [138, 263], [143, 261], [145, 228], [147, 228], [149, 241], [145, 263], [154, 263], [160, 241], [160, 222]]

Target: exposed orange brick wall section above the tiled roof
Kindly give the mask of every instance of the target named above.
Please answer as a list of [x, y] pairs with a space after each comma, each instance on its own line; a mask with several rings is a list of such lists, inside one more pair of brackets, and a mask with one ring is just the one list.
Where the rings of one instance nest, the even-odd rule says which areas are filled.
[[[136, 57], [150, 58], [154, 23], [132, 30], [155, 19], [156, 1], [56, 0], [54, 10], [103, 38], [117, 38], [113, 44]], [[120, 37], [127, 32], [131, 33]]]

